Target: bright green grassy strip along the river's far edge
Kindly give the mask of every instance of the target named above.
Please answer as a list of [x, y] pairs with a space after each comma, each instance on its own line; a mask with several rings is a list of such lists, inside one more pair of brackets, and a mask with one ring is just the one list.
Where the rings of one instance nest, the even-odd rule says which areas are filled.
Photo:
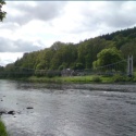
[[136, 77], [127, 77], [121, 75], [114, 76], [101, 76], [101, 75], [89, 75], [89, 76], [57, 76], [57, 77], [37, 77], [30, 76], [27, 78], [20, 78], [21, 81], [36, 82], [36, 83], [79, 83], [79, 84], [91, 84], [91, 83], [134, 83]]

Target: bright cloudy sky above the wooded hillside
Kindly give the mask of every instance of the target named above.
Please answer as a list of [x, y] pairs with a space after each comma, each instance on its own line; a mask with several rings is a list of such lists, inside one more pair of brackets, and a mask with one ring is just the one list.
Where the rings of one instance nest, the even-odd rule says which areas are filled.
[[79, 42], [136, 26], [136, 1], [7, 1], [0, 65], [55, 41]]

